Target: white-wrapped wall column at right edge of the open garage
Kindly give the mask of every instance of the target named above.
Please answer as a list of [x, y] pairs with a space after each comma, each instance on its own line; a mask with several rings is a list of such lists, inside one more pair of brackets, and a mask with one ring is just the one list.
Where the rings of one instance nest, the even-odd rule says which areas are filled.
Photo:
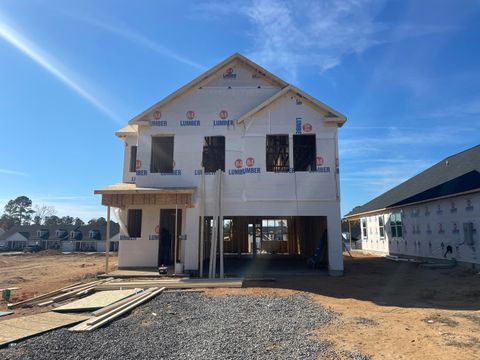
[[331, 276], [343, 275], [342, 224], [340, 204], [333, 205], [327, 216], [328, 272]]

